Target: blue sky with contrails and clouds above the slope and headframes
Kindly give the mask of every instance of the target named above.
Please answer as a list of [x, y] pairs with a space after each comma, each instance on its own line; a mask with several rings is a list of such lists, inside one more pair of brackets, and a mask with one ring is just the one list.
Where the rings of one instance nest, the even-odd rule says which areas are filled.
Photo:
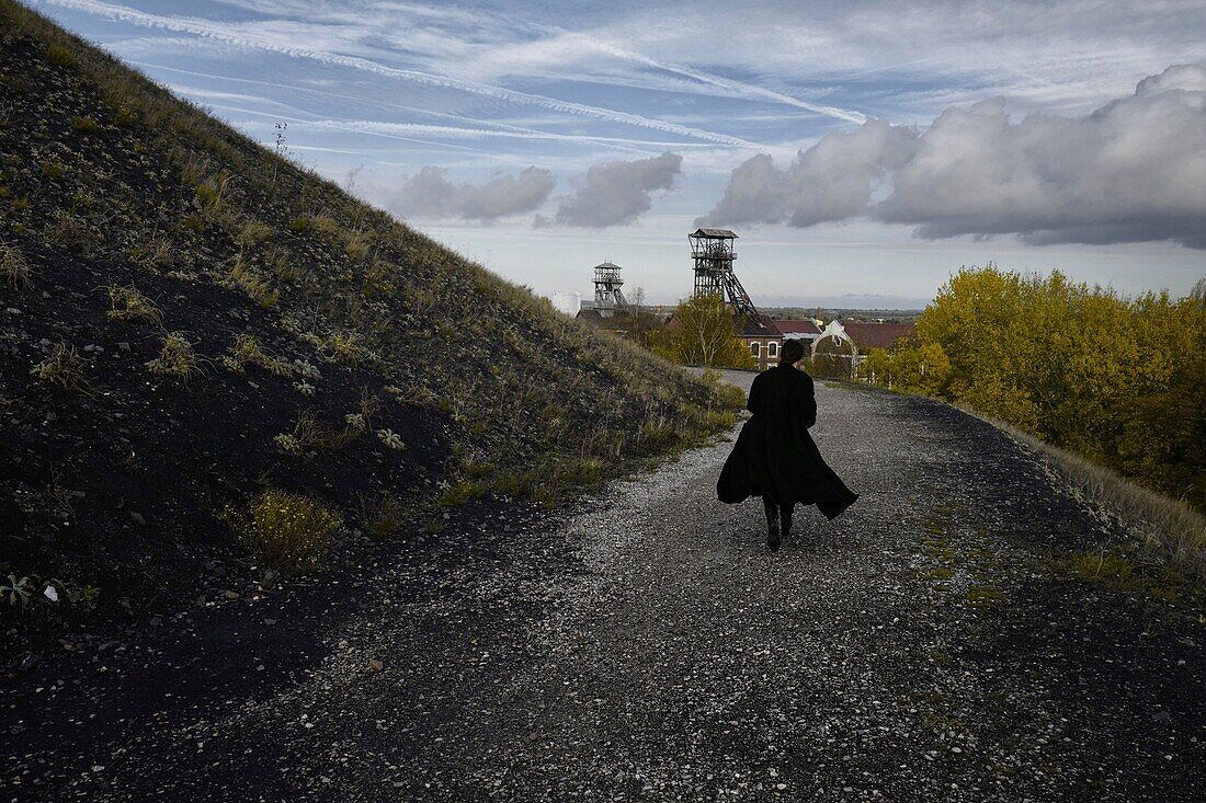
[[920, 307], [961, 265], [1206, 275], [1206, 1], [28, 0], [539, 293]]

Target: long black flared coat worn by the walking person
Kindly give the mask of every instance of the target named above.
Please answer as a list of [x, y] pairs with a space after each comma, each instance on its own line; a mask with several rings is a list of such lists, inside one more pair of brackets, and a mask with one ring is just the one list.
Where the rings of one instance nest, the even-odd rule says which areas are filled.
[[859, 494], [825, 464], [808, 434], [816, 423], [812, 376], [791, 365], [765, 370], [754, 379], [745, 408], [754, 417], [716, 481], [721, 502], [768, 496], [780, 505], [815, 504], [829, 518], [854, 504]]

